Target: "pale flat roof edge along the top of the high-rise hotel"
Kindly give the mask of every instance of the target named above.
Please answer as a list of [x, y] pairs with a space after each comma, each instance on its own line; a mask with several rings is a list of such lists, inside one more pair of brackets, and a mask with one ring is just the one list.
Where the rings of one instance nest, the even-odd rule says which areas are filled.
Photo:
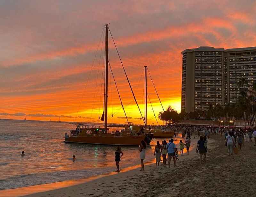
[[187, 52], [193, 52], [193, 51], [225, 51], [225, 52], [237, 52], [237, 51], [250, 51], [250, 50], [256, 50], [256, 47], [244, 47], [244, 48], [214, 48], [214, 47], [198, 47], [193, 49], [185, 49], [181, 52], [181, 54], [187, 53]]

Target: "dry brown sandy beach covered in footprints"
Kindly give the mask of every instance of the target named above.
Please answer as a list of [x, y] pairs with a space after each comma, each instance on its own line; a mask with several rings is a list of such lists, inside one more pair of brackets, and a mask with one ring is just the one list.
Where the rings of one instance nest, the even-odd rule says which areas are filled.
[[[254, 142], [235, 155], [227, 156], [224, 137], [211, 135], [208, 142], [206, 162], [200, 164], [195, 153], [195, 142], [189, 156], [179, 156], [177, 167], [145, 166], [87, 181], [75, 186], [64, 187], [46, 192], [33, 193], [28, 197], [68, 197], [68, 196], [255, 196]], [[36, 186], [35, 186], [36, 187]]]

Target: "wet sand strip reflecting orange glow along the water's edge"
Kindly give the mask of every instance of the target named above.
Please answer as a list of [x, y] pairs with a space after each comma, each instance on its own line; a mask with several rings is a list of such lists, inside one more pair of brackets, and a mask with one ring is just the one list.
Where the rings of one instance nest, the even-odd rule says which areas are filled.
[[[187, 152], [184, 150], [184, 156], [179, 155], [180, 161], [186, 159], [187, 157], [195, 157], [195, 148], [196, 148], [196, 139], [191, 140], [191, 146], [190, 146], [190, 154], [187, 156]], [[210, 139], [211, 141], [211, 139]], [[211, 142], [209, 142], [209, 145]], [[162, 168], [161, 166], [162, 162], [160, 163], [160, 166], [158, 168]], [[178, 163], [179, 164], [179, 161]], [[152, 168], [156, 168], [155, 159], [144, 163], [145, 170], [151, 171]], [[181, 163], [182, 165], [182, 163]], [[164, 168], [168, 168], [168, 166], [165, 166]], [[173, 162], [171, 162], [171, 169], [173, 168]], [[66, 181], [60, 181], [60, 182], [54, 182], [54, 183], [47, 183], [42, 185], [35, 185], [35, 186], [26, 186], [26, 187], [19, 187], [19, 188], [13, 188], [13, 189], [5, 189], [0, 190], [0, 197], [14, 197], [14, 196], [41, 196], [42, 193], [48, 193], [53, 191], [62, 190], [65, 188], [73, 188], [78, 187], [80, 185], [89, 184], [94, 185], [95, 182], [104, 182], [105, 180], [114, 180], [116, 178], [124, 178], [126, 176], [131, 176], [132, 174], [138, 174], [140, 169], [140, 164], [133, 165], [124, 169], [121, 169], [120, 173], [117, 172], [108, 172], [105, 174], [95, 175], [84, 179], [72, 179], [72, 180], [66, 180]], [[144, 172], [140, 172], [143, 174]], [[133, 176], [132, 175], [132, 176]], [[72, 195], [71, 195], [72, 196]]]

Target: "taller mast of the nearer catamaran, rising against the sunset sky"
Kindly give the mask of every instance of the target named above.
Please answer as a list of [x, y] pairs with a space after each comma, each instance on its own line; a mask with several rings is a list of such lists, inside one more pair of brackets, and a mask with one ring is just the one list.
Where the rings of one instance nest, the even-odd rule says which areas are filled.
[[105, 63], [105, 129], [108, 126], [108, 24], [106, 26], [106, 63]]

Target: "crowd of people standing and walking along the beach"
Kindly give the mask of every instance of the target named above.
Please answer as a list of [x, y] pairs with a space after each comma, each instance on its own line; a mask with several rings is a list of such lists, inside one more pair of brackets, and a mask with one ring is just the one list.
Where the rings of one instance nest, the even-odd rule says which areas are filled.
[[[256, 130], [246, 129], [246, 128], [225, 128], [225, 127], [207, 127], [207, 126], [182, 126], [174, 125], [170, 126], [174, 131], [174, 138], [170, 139], [167, 143], [166, 140], [163, 140], [160, 144], [159, 141], [156, 142], [154, 155], [156, 157], [156, 166], [159, 166], [160, 162], [163, 161], [163, 165], [167, 165], [170, 168], [171, 160], [173, 159], [174, 167], [176, 167], [176, 160], [179, 160], [179, 155], [183, 156], [184, 149], [187, 150], [187, 155], [189, 155], [189, 148], [191, 143], [191, 138], [199, 138], [197, 141], [196, 152], [200, 155], [200, 164], [205, 162], [206, 154], [208, 151], [207, 143], [210, 135], [220, 134], [224, 136], [225, 145], [228, 148], [228, 156], [233, 157], [233, 152], [236, 150], [236, 142], [238, 143], [238, 149], [242, 149], [244, 142], [252, 142], [252, 137], [254, 137], [256, 146]], [[174, 141], [177, 140], [176, 136], [181, 133], [181, 140], [179, 142], [179, 151], [176, 148]], [[185, 141], [183, 142], [185, 138]], [[140, 161], [141, 169], [140, 171], [145, 171], [144, 168], [144, 159], [146, 156], [146, 142], [141, 141], [139, 146], [140, 151]], [[121, 156], [120, 156], [121, 154]], [[116, 158], [116, 167], [117, 172], [119, 172], [119, 162], [120, 158], [123, 156], [121, 147], [118, 147], [115, 152]], [[162, 157], [161, 157], [162, 156]]]

